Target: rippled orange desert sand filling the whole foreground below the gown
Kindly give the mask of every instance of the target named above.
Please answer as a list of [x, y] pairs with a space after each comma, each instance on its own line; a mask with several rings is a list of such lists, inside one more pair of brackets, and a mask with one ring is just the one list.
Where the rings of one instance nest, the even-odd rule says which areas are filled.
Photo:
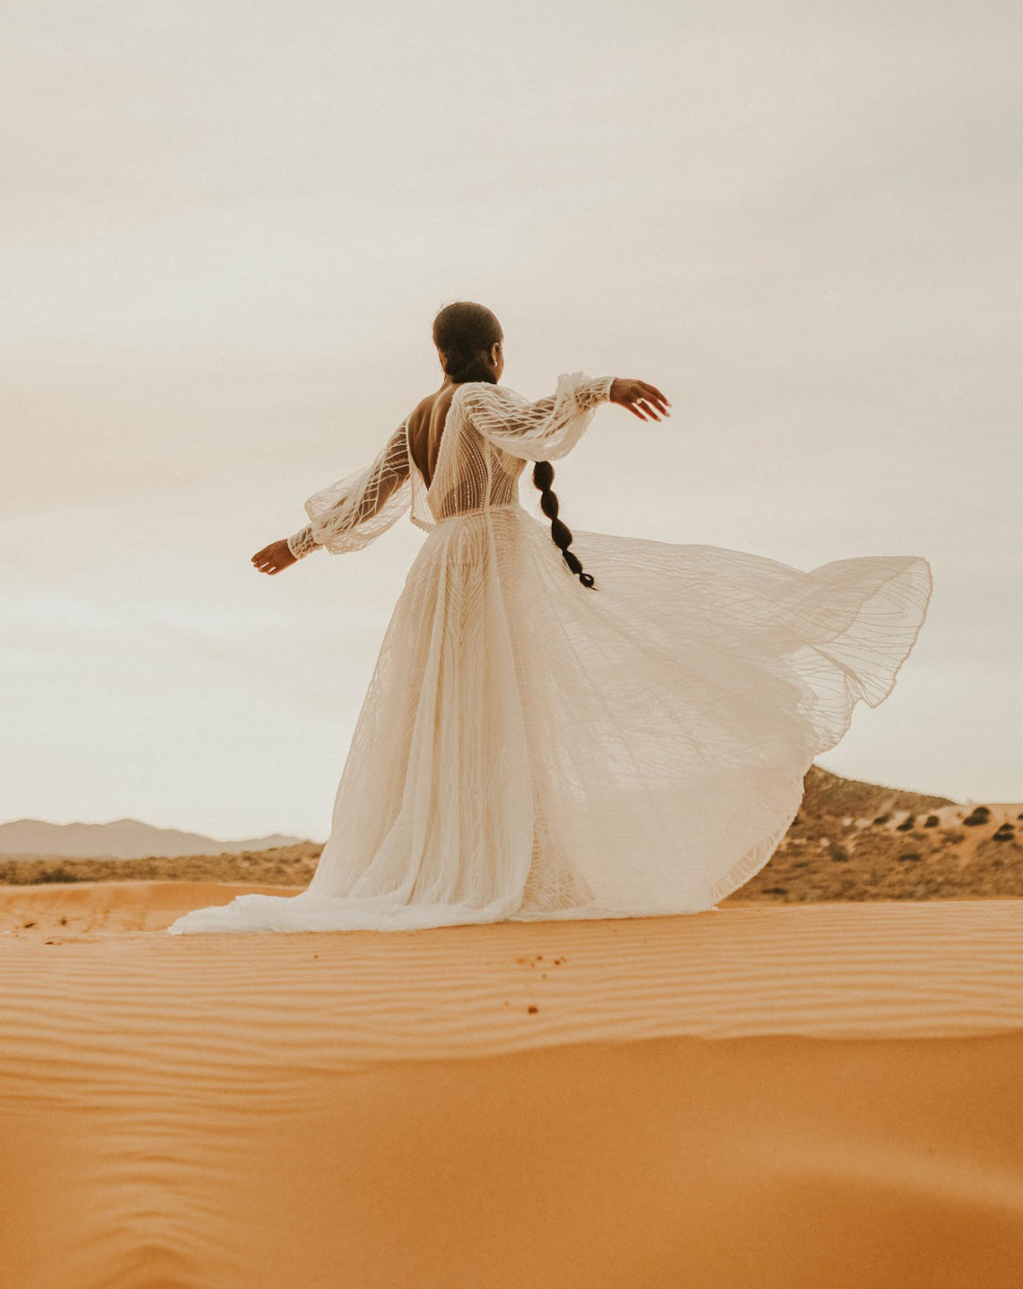
[[1019, 1285], [1023, 902], [162, 929], [240, 889], [0, 889], [4, 1289]]

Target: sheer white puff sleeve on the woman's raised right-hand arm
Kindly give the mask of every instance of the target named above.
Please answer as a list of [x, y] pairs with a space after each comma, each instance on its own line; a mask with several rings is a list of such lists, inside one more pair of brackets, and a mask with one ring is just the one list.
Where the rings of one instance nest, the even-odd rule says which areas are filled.
[[576, 446], [602, 402], [611, 398], [615, 376], [591, 378], [582, 371], [558, 376], [546, 398], [528, 402], [505, 385], [470, 380], [463, 385], [463, 407], [484, 438], [512, 456], [546, 461]]

